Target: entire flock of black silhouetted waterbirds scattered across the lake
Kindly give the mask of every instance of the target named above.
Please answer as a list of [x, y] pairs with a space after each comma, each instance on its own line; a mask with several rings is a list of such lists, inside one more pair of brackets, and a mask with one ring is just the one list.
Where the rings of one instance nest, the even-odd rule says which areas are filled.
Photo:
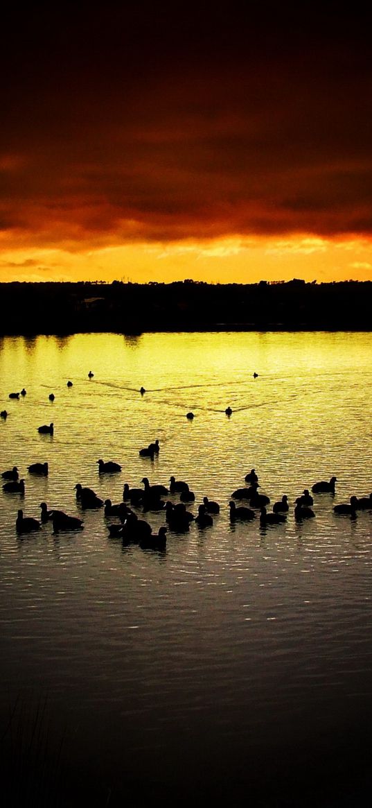
[[[257, 377], [257, 374], [254, 374]], [[90, 371], [88, 377], [94, 377], [94, 373]], [[68, 387], [73, 386], [72, 381], [67, 382]], [[9, 398], [19, 398], [25, 396], [27, 391], [23, 388], [19, 393], [10, 393]], [[141, 395], [145, 393], [145, 389], [140, 389]], [[54, 400], [54, 394], [50, 393], [49, 399]], [[232, 410], [230, 407], [225, 410], [226, 415], [231, 415]], [[0, 414], [2, 418], [6, 418], [6, 410], [2, 410]], [[189, 412], [186, 415], [187, 419], [194, 418], [193, 413]], [[43, 424], [38, 427], [40, 434], [53, 435], [53, 423]], [[160, 452], [159, 440], [154, 440], [153, 443], [148, 444], [147, 447], [140, 449], [140, 457], [149, 457], [153, 460], [155, 455]], [[114, 461], [103, 461], [99, 459], [98, 473], [99, 474], [116, 474], [122, 471], [121, 465]], [[48, 476], [48, 463], [32, 463], [27, 467], [30, 474], [39, 475], [41, 477]], [[13, 466], [2, 472], [2, 479], [6, 482], [2, 485], [2, 490], [5, 494], [19, 494], [21, 497], [25, 494], [25, 480], [19, 479], [19, 469]], [[115, 518], [118, 521], [113, 524], [107, 524], [107, 529], [111, 537], [119, 537], [124, 543], [137, 543], [144, 549], [165, 549], [166, 546], [166, 532], [186, 532], [190, 529], [190, 523], [194, 522], [199, 528], [207, 528], [213, 525], [214, 517], [218, 517], [220, 512], [219, 503], [211, 501], [207, 496], [203, 497], [203, 502], [198, 505], [198, 514], [194, 516], [191, 511], [188, 511], [186, 505], [194, 503], [195, 494], [190, 490], [190, 486], [183, 480], [177, 480], [174, 476], [169, 479], [169, 485], [164, 486], [161, 484], [150, 485], [147, 477], [141, 480], [143, 488], [131, 488], [128, 483], [123, 486], [123, 499], [121, 502], [113, 504], [111, 499], [102, 500], [98, 494], [81, 483], [75, 486], [77, 506], [82, 510], [99, 509], [103, 508], [105, 519], [109, 520]], [[232, 491], [228, 508], [229, 520], [231, 524], [236, 522], [247, 522], [257, 518], [259, 513], [259, 522], [261, 527], [265, 528], [267, 525], [278, 525], [286, 521], [289, 513], [289, 503], [286, 494], [283, 494], [282, 499], [275, 502], [272, 511], [268, 511], [270, 505], [270, 498], [266, 494], [261, 494], [258, 491], [260, 484], [255, 469], [251, 469], [245, 475], [246, 485]], [[330, 480], [320, 481], [314, 483], [311, 492], [314, 494], [335, 494], [336, 477], [331, 477]], [[169, 499], [164, 499], [168, 496], [178, 496], [179, 502], [173, 503]], [[236, 501], [244, 502], [243, 505], [237, 505]], [[303, 493], [295, 500], [294, 516], [296, 521], [302, 521], [314, 518], [316, 516], [312, 506], [314, 499], [308, 489], [304, 489]], [[132, 508], [142, 511], [144, 516], [149, 511], [164, 511], [165, 525], [159, 528], [159, 531], [153, 533], [153, 528], [147, 520], [140, 519], [138, 514]], [[372, 510], [372, 493], [369, 497], [357, 496], [350, 497], [349, 503], [341, 503], [333, 507], [335, 514], [348, 515], [353, 519], [357, 516], [357, 511]], [[82, 530], [84, 522], [77, 516], [70, 516], [65, 511], [52, 508], [48, 510], [47, 503], [40, 503], [40, 520], [34, 519], [30, 516], [24, 516], [23, 510], [19, 508], [18, 516], [15, 521], [15, 529], [19, 535], [24, 535], [31, 532], [40, 531], [42, 525], [52, 522], [53, 532], [58, 533], [61, 531], [70, 532], [75, 530]]]

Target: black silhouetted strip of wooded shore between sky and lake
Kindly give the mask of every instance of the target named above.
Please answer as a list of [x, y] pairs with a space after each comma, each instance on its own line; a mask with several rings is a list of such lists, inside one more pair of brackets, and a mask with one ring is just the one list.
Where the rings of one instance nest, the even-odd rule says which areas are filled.
[[372, 281], [0, 284], [2, 335], [162, 330], [371, 330]]

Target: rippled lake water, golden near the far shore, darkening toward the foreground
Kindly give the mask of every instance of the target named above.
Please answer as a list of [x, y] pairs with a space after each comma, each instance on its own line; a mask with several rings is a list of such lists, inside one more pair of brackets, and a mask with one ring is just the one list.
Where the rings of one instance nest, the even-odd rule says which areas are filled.
[[[372, 511], [332, 507], [372, 490], [371, 335], [4, 338], [0, 381], [0, 471], [17, 465], [26, 486], [0, 493], [2, 726], [13, 710], [26, 733], [43, 703], [65, 782], [97, 805], [355, 801], [370, 787]], [[159, 456], [140, 457], [156, 438]], [[98, 458], [122, 472], [98, 475]], [[27, 472], [36, 461], [48, 478]], [[230, 524], [253, 467], [271, 503], [288, 495], [286, 524]], [[205, 495], [221, 511], [169, 531], [165, 552], [111, 539], [102, 511], [78, 533], [15, 532], [42, 501], [81, 516], [77, 482], [116, 503], [124, 482], [171, 474], [195, 515]], [[296, 523], [295, 498], [332, 475], [335, 496]]]

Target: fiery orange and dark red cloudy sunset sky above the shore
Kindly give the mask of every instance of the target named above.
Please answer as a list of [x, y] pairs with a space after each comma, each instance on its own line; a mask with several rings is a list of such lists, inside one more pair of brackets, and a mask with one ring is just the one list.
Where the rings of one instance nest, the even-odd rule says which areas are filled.
[[372, 280], [357, 4], [2, 11], [0, 280]]

